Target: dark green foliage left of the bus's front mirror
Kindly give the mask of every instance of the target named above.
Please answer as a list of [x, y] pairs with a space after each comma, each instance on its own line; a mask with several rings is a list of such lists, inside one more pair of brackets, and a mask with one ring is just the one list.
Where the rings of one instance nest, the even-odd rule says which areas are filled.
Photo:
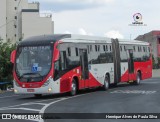
[[10, 42], [0, 41], [0, 81], [12, 80], [12, 63], [10, 62], [10, 54], [16, 48], [16, 45]]

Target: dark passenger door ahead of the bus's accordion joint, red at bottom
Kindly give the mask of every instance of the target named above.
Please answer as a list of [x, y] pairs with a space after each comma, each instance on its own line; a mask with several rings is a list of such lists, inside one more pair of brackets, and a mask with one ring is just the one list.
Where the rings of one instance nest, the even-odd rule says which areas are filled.
[[88, 54], [87, 49], [80, 49], [80, 66], [81, 66], [81, 82], [82, 87], [89, 87], [89, 69], [88, 69]]

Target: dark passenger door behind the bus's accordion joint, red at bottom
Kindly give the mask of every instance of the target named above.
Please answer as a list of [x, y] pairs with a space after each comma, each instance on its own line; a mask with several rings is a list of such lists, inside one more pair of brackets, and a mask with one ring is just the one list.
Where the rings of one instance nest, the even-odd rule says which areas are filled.
[[133, 50], [128, 49], [128, 80], [134, 80], [134, 60], [133, 60]]

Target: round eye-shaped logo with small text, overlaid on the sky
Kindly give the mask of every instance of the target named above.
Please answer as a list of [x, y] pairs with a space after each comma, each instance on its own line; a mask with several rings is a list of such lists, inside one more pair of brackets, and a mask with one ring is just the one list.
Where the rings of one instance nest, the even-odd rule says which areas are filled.
[[141, 13], [133, 14], [133, 21], [132, 24], [129, 24], [130, 26], [147, 26], [147, 24], [143, 23], [143, 16]]

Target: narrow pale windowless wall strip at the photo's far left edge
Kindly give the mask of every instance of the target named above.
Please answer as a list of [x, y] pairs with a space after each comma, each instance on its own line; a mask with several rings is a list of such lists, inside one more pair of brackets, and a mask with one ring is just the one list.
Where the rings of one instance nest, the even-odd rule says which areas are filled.
[[6, 0], [1, 0], [0, 4], [0, 39], [6, 40]]

